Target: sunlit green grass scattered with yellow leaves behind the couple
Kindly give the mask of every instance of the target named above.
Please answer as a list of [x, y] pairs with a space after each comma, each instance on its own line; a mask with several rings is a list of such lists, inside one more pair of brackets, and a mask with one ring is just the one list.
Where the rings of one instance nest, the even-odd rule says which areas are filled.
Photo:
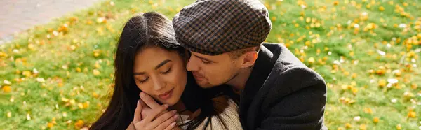
[[[105, 1], [29, 29], [13, 42], [0, 45], [0, 129], [49, 129], [48, 123], [51, 129], [89, 126], [107, 105], [116, 38], [124, 22], [136, 13], [152, 10], [172, 18], [192, 2], [114, 1], [112, 6]], [[337, 5], [331, 0], [263, 2], [272, 20], [267, 41], [287, 45], [326, 79], [327, 127], [346, 129], [347, 123], [348, 129], [363, 129], [361, 125], [366, 129], [421, 126], [421, 105], [417, 104], [421, 102], [417, 50], [421, 43], [421, 1], [394, 0], [391, 4], [345, 0]], [[395, 11], [398, 5], [407, 16]], [[98, 17], [105, 17], [106, 22], [97, 22]], [[375, 28], [364, 31], [370, 23]], [[354, 29], [354, 24], [359, 24], [359, 30]], [[406, 28], [400, 28], [400, 24], [406, 24]], [[411, 37], [419, 43], [408, 43]], [[413, 64], [417, 67], [410, 67]], [[34, 69], [39, 73], [34, 74]], [[401, 75], [393, 73], [395, 70]], [[381, 80], [387, 84], [391, 78], [399, 82], [390, 88], [380, 87]], [[405, 92], [413, 96], [405, 96]], [[354, 102], [342, 100], [346, 98]], [[368, 109], [372, 113], [367, 113]], [[408, 117], [411, 111], [415, 117]], [[357, 116], [361, 120], [355, 121]], [[380, 121], [373, 122], [375, 117]]]

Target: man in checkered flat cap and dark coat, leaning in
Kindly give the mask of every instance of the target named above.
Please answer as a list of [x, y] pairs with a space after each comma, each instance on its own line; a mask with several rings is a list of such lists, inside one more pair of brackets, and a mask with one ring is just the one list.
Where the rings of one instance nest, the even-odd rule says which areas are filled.
[[326, 129], [326, 83], [285, 46], [263, 43], [272, 25], [260, 1], [199, 0], [173, 26], [201, 87], [241, 90], [243, 129]]

